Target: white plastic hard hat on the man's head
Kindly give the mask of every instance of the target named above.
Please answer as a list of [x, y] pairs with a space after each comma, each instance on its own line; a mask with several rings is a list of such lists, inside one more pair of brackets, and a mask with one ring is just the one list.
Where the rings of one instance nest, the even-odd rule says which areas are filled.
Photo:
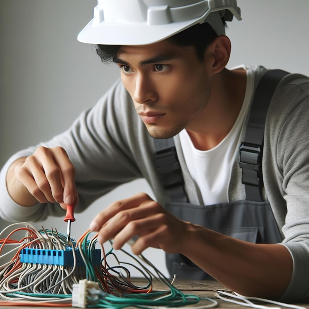
[[221, 16], [241, 20], [236, 0], [98, 0], [93, 15], [77, 37], [80, 42], [151, 44], [203, 22], [223, 35]]

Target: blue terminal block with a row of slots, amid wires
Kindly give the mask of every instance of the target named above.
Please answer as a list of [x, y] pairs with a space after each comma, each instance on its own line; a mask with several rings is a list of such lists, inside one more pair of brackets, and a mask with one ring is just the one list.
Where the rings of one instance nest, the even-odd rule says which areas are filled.
[[[101, 264], [101, 250], [92, 249], [91, 251], [92, 265]], [[85, 266], [83, 259], [81, 258], [78, 249], [75, 249], [76, 266]], [[61, 265], [61, 266], [73, 266], [74, 257], [73, 249], [69, 250], [52, 250], [52, 249], [32, 249], [24, 248], [20, 253], [20, 262], [32, 263], [32, 264], [48, 264], [48, 265]]]

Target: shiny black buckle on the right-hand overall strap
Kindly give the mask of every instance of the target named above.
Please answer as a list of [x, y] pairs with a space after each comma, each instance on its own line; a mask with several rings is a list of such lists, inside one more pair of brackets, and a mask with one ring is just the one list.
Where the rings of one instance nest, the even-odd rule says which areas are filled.
[[262, 187], [262, 146], [242, 143], [239, 153], [239, 166], [242, 168], [242, 184]]

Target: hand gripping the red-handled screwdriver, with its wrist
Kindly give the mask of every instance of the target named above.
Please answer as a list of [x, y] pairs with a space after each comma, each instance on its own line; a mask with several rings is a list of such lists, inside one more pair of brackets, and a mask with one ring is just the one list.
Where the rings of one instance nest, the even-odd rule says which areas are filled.
[[79, 202], [75, 168], [62, 147], [39, 147], [34, 154], [14, 161], [6, 175], [10, 196], [22, 206], [36, 203], [67, 204]]

